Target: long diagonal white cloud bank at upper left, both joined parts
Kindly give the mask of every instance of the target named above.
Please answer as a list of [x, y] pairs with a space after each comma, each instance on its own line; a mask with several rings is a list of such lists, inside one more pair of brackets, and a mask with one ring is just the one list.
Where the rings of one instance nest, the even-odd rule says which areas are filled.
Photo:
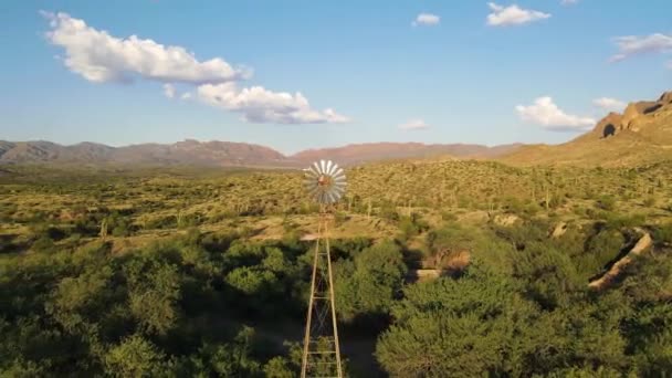
[[[242, 113], [243, 119], [251, 123], [348, 122], [330, 108], [311, 108], [301, 93], [271, 92], [262, 86], [239, 90], [237, 82], [251, 77], [251, 70], [233, 67], [221, 57], [199, 61], [181, 46], [166, 46], [136, 35], [116, 38], [66, 13], [42, 14], [51, 27], [46, 39], [65, 50], [64, 64], [91, 82], [156, 81], [164, 83], [162, 91], [168, 98], [178, 95], [174, 83], [195, 85], [200, 101]], [[186, 92], [180, 98], [191, 96]]]

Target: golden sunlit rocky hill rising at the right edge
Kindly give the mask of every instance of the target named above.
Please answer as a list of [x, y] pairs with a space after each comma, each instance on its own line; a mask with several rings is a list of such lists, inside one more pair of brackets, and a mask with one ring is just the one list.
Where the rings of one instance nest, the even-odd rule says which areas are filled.
[[528, 145], [500, 158], [513, 165], [638, 166], [672, 161], [672, 92], [629, 104], [565, 144]]

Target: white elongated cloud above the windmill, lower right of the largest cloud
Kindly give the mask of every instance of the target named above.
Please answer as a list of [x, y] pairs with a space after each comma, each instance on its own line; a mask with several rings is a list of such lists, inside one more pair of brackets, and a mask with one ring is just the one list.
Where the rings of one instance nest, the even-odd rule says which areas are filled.
[[301, 94], [271, 92], [262, 86], [239, 90], [234, 83], [203, 84], [198, 96], [207, 104], [242, 113], [251, 123], [323, 124], [345, 123], [349, 119], [330, 108], [322, 112], [311, 108]]

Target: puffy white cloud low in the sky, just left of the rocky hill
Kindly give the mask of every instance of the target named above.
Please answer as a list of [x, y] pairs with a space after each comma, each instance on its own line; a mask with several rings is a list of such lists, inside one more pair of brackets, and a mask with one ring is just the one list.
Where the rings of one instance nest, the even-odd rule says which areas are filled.
[[548, 96], [535, 99], [533, 105], [518, 105], [516, 112], [523, 120], [542, 125], [544, 128], [555, 132], [586, 130], [596, 123], [592, 118], [563, 112]]

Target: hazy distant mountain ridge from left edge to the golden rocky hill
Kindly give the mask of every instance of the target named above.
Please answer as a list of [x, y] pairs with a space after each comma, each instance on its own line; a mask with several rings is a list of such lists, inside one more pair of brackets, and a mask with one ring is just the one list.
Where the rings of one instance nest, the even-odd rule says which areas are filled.
[[302, 167], [315, 159], [334, 159], [353, 165], [397, 158], [449, 155], [458, 158], [491, 158], [519, 145], [423, 145], [420, 143], [376, 143], [338, 148], [311, 149], [292, 156], [264, 146], [231, 141], [185, 140], [170, 145], [141, 144], [109, 147], [94, 143], [62, 146], [51, 141], [2, 141], [0, 164], [122, 164], [191, 165], [218, 167]]

